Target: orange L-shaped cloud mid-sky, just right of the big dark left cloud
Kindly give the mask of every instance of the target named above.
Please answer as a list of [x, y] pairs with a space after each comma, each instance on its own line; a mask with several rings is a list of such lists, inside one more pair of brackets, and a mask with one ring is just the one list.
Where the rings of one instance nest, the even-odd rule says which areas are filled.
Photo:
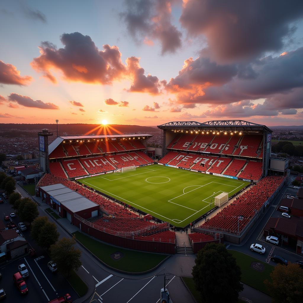
[[158, 77], [144, 75], [144, 68], [139, 65], [139, 58], [129, 57], [126, 59], [128, 72], [133, 79], [133, 84], [129, 92], [145, 92], [151, 95], [157, 95], [160, 92], [161, 82]]

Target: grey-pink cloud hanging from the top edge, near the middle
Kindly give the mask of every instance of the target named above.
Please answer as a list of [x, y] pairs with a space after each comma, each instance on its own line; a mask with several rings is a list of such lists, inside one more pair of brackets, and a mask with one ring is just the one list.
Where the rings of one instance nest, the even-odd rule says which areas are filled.
[[174, 53], [181, 46], [181, 32], [171, 23], [171, 5], [181, 1], [126, 0], [120, 15], [135, 41], [161, 43], [161, 53]]

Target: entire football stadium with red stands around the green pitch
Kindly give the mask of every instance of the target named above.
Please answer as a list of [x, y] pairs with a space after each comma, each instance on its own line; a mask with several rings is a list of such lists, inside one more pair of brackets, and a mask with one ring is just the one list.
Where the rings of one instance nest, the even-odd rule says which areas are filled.
[[126, 248], [174, 254], [175, 230], [188, 227], [188, 251], [240, 243], [288, 173], [270, 159], [271, 129], [241, 120], [158, 128], [158, 157], [149, 134], [66, 135], [48, 144], [53, 134], [44, 129], [37, 195], [82, 232]]

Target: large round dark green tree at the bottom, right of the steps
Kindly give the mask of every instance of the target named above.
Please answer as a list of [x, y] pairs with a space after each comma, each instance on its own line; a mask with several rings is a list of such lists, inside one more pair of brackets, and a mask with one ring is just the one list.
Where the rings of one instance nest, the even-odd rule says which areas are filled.
[[[203, 302], [238, 302], [241, 269], [236, 259], [223, 244], [208, 243], [198, 251], [192, 269], [195, 288], [201, 293]], [[219, 284], [218, 284], [219, 282]]]

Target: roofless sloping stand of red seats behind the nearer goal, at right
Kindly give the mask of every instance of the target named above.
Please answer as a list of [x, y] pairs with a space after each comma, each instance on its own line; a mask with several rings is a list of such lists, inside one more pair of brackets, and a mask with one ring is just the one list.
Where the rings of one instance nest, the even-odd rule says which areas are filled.
[[248, 222], [255, 215], [265, 201], [278, 189], [284, 177], [265, 177], [250, 190], [242, 194], [230, 205], [223, 208], [218, 214], [202, 224], [201, 228], [213, 229], [216, 231], [238, 232], [238, 216], [244, 216], [240, 221], [239, 232], [245, 228]]

